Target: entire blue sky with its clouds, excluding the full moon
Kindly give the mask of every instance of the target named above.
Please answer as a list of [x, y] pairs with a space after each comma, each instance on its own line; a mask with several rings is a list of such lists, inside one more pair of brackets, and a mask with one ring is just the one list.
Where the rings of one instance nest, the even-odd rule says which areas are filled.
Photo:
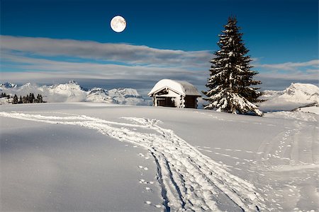
[[[123, 33], [110, 28], [116, 15], [127, 21]], [[231, 15], [263, 88], [317, 83], [317, 0], [1, 0], [1, 78], [141, 90], [175, 78], [203, 89]]]

